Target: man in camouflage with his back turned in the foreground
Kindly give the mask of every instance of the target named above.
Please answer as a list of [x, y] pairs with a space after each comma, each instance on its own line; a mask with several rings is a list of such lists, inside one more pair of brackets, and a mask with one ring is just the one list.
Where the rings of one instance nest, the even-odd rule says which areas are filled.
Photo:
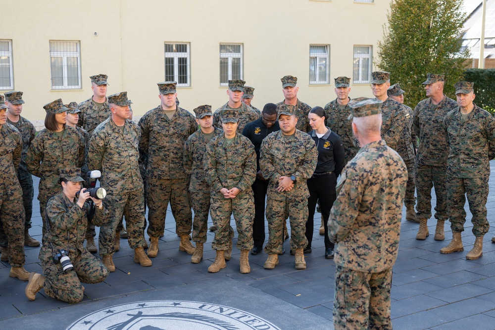
[[[407, 169], [380, 137], [376, 116], [380, 103], [377, 99], [349, 103], [356, 137], [363, 146], [341, 174], [328, 220], [330, 240], [337, 243], [336, 330], [392, 329], [392, 267], [399, 245]], [[372, 115], [375, 117], [368, 117]], [[366, 134], [366, 125], [376, 130]]]

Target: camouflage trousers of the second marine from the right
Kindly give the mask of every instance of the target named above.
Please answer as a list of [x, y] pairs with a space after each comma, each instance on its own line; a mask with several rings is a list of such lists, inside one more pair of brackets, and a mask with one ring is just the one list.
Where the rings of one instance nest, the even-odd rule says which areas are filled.
[[437, 205], [435, 206], [435, 219], [448, 220], [447, 212], [447, 188], [446, 167], [416, 165], [416, 193], [418, 202], [416, 216], [418, 219], [430, 219], [432, 216], [432, 188], [435, 187]]

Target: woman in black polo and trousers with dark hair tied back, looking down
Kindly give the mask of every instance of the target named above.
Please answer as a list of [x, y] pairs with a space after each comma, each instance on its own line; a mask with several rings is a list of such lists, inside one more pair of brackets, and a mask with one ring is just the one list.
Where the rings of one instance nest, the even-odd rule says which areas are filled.
[[[313, 131], [308, 134], [316, 143], [318, 149], [318, 163], [314, 170], [313, 176], [307, 180], [309, 198], [308, 198], [308, 220], [306, 222], [306, 238], [308, 245], [304, 253], [311, 252], [311, 241], [314, 232], [314, 212], [316, 202], [320, 201], [321, 214], [323, 215], [323, 224], [325, 226], [325, 258], [334, 257], [334, 243], [328, 238], [328, 217], [330, 209], [334, 204], [337, 194], [337, 177], [344, 168], [345, 153], [344, 145], [341, 138], [325, 126], [326, 113], [322, 107], [316, 106], [309, 111], [309, 124]], [[349, 123], [350, 125], [350, 123]]]

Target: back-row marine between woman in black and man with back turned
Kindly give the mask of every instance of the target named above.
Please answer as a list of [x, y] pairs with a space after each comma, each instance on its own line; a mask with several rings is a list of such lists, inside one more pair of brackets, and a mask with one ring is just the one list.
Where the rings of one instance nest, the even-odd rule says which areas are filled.
[[328, 126], [334, 131], [341, 138], [342, 143], [344, 143], [344, 150], [346, 152], [345, 166], [348, 161], [354, 158], [359, 150], [359, 146], [358, 141], [352, 135], [352, 127], [348, 119], [350, 115], [350, 108], [348, 105], [350, 97], [347, 95], [350, 92], [350, 78], [337, 77], [334, 81], [337, 98], [328, 102], [324, 107], [325, 113], [327, 114], [325, 126]]

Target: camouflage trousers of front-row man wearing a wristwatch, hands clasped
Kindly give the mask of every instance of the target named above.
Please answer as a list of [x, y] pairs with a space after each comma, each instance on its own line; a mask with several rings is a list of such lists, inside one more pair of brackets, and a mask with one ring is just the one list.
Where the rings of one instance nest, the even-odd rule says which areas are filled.
[[282, 253], [284, 243], [284, 223], [289, 218], [291, 225], [291, 250], [304, 248], [308, 244], [305, 236], [308, 219], [308, 200], [301, 199], [276, 200], [266, 199], [266, 219], [268, 220], [267, 254]]

